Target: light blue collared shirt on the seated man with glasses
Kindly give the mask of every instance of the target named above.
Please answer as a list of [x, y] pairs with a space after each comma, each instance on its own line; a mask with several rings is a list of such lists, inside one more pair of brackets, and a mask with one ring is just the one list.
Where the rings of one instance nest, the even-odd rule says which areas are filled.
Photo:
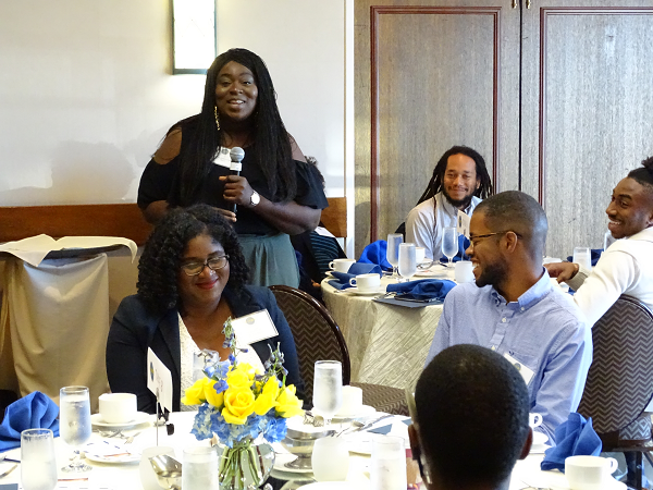
[[530, 378], [530, 412], [542, 415], [539, 429], [551, 440], [555, 428], [578, 408], [592, 364], [591, 329], [571, 298], [553, 287], [545, 270], [507, 304], [490, 285], [454, 287], [444, 302], [427, 364], [456, 344], [482, 345], [518, 365], [525, 381]]

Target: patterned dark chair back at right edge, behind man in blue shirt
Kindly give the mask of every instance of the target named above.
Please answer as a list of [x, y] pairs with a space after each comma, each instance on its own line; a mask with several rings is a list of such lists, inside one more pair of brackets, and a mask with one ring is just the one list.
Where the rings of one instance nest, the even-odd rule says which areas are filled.
[[592, 341], [594, 356], [578, 413], [592, 417], [599, 434], [619, 431], [653, 396], [653, 314], [621, 295], [592, 328]]

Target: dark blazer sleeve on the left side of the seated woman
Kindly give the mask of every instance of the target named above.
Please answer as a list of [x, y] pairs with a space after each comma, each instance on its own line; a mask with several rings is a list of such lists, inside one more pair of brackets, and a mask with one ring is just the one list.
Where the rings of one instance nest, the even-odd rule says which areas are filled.
[[147, 389], [147, 338], [134, 297], [124, 298], [107, 340], [107, 377], [113, 393], [134, 393], [139, 412], [153, 414], [156, 399]]

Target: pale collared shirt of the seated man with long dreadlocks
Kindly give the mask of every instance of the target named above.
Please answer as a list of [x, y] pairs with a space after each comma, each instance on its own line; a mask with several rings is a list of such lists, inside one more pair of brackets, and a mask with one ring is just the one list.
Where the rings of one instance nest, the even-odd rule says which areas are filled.
[[[481, 199], [473, 196], [465, 208], [465, 213], [471, 216]], [[441, 192], [434, 197], [420, 203], [406, 218], [406, 242], [416, 247], [424, 247], [424, 256], [431, 260], [442, 257], [442, 230], [455, 226], [458, 220], [458, 208], [453, 206]]]

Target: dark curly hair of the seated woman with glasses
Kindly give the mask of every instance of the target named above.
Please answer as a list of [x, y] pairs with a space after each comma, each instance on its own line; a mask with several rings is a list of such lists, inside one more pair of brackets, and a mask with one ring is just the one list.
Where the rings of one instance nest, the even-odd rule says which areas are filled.
[[208, 234], [229, 255], [229, 286], [241, 290], [249, 278], [238, 236], [214, 208], [197, 205], [172, 209], [155, 228], [138, 264], [138, 297], [152, 311], [183, 311], [177, 289], [182, 256], [188, 242]]

